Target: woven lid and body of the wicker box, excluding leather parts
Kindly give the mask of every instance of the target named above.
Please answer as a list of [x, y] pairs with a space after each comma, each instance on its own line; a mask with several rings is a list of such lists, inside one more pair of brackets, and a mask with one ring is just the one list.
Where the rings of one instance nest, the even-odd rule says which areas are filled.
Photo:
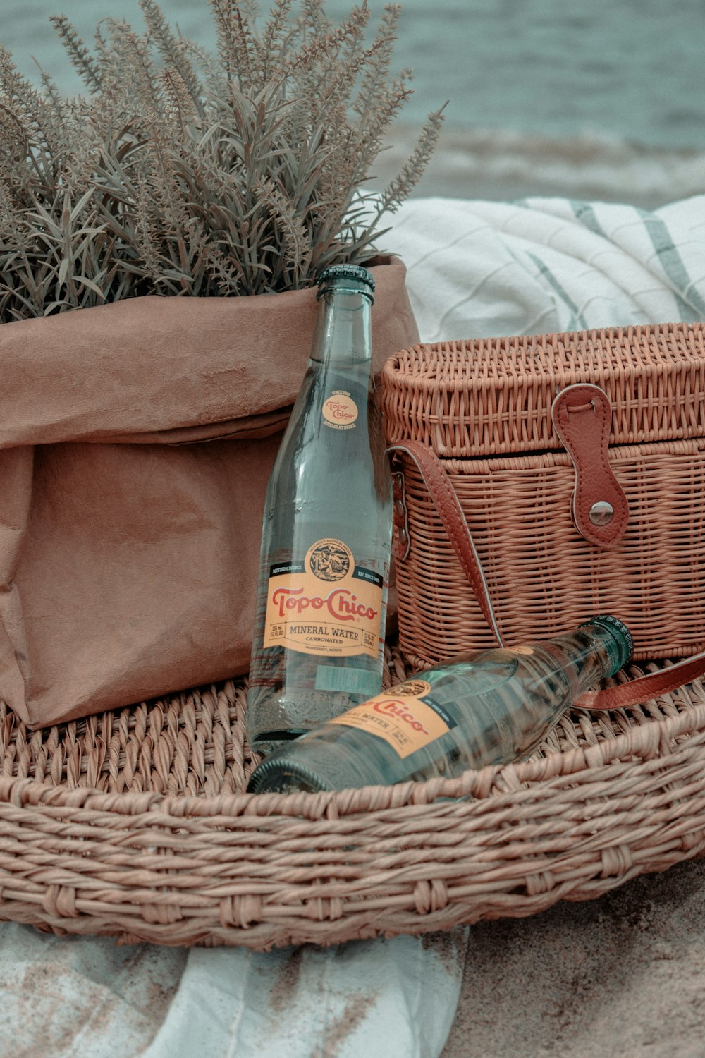
[[[388, 362], [390, 441], [420, 440], [441, 456], [508, 642], [613, 613], [637, 659], [705, 646], [704, 371], [701, 325], [418, 346]], [[556, 391], [577, 381], [612, 393], [610, 466], [629, 523], [610, 550], [573, 524], [575, 473], [551, 426]], [[468, 455], [477, 451], [482, 458]], [[401, 462], [410, 539], [397, 566], [402, 647], [420, 665], [490, 646], [421, 475]]]

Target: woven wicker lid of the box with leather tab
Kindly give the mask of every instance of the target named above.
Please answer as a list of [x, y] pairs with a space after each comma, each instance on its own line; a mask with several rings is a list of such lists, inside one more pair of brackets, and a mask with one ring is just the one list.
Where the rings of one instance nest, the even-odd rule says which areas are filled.
[[390, 442], [413, 437], [447, 458], [560, 449], [551, 405], [577, 382], [609, 396], [614, 444], [702, 437], [705, 325], [419, 345], [382, 378]]

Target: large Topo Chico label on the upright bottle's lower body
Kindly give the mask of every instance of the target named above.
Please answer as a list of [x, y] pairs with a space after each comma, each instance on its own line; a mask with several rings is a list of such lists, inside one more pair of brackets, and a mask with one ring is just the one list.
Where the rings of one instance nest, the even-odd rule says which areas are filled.
[[303, 562], [271, 567], [263, 645], [376, 657], [383, 587], [378, 573], [355, 565], [342, 541], [316, 541]]

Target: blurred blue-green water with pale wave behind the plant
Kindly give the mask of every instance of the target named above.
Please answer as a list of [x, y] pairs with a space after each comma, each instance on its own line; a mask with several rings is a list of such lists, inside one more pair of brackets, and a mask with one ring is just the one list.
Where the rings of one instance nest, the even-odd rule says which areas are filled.
[[[67, 92], [74, 75], [49, 15], [87, 42], [106, 16], [144, 22], [137, 0], [0, 0], [0, 42]], [[353, 0], [328, 0], [335, 21]], [[172, 24], [212, 45], [207, 0], [161, 0]], [[262, 0], [261, 8], [268, 8]], [[370, 0], [373, 22], [382, 2]], [[414, 94], [381, 158], [404, 161], [429, 110], [446, 129], [420, 194], [559, 194], [654, 205], [705, 190], [702, 0], [404, 0], [394, 56]]]

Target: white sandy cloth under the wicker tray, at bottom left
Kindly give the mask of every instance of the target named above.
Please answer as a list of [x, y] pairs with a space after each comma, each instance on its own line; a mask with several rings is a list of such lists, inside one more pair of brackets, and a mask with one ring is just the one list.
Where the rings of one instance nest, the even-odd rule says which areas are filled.
[[467, 931], [331, 948], [119, 947], [0, 928], [0, 1055], [437, 1058]]

